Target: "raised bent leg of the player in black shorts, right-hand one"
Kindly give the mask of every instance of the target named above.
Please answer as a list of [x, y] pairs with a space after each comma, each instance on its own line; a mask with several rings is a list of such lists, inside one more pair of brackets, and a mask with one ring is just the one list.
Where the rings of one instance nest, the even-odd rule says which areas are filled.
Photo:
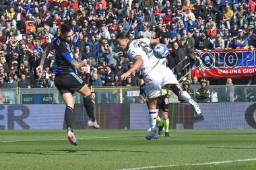
[[86, 112], [89, 117], [88, 126], [93, 128], [100, 128], [97, 124], [97, 121], [94, 117], [94, 104], [92, 103], [91, 91], [88, 88], [88, 85], [84, 85], [81, 89], [77, 91], [78, 93], [84, 96], [84, 108], [86, 108]]

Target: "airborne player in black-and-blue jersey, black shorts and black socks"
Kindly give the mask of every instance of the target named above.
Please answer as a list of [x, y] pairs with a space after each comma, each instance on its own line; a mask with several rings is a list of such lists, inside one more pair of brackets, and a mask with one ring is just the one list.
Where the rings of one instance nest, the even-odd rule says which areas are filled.
[[76, 91], [84, 96], [84, 107], [88, 113], [88, 126], [100, 128], [94, 118], [94, 108], [92, 103], [91, 91], [88, 85], [77, 76], [75, 69], [84, 67], [86, 60], [77, 62], [73, 57], [73, 31], [68, 24], [61, 25], [61, 36], [57, 37], [49, 46], [44, 49], [40, 66], [37, 71], [42, 72], [44, 60], [51, 50], [55, 50], [55, 62], [53, 73], [55, 73], [55, 86], [61, 93], [61, 97], [66, 104], [65, 122], [67, 124], [67, 138], [73, 145], [77, 145], [75, 134], [73, 133], [72, 114], [74, 109], [73, 93]]

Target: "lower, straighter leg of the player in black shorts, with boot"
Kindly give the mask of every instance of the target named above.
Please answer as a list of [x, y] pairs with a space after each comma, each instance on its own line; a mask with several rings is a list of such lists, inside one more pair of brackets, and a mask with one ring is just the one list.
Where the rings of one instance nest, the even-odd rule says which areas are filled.
[[61, 95], [63, 101], [66, 104], [65, 110], [65, 122], [67, 124], [67, 139], [73, 145], [77, 145], [77, 140], [75, 139], [75, 134], [73, 133], [73, 109], [74, 109], [74, 101], [73, 95], [70, 92], [63, 93]]

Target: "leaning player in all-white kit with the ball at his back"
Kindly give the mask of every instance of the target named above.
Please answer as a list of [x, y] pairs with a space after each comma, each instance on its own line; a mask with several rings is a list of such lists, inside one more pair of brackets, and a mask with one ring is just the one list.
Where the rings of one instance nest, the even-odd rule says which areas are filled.
[[201, 115], [199, 105], [191, 99], [187, 91], [183, 91], [181, 85], [173, 75], [172, 71], [166, 67], [166, 58], [156, 58], [150, 45], [159, 44], [156, 39], [141, 38], [137, 40], [130, 40], [126, 33], [117, 35], [117, 46], [124, 51], [130, 58], [135, 60], [133, 67], [126, 73], [121, 75], [121, 79], [126, 79], [131, 72], [139, 69], [146, 81], [146, 93], [149, 104], [149, 119], [151, 132], [146, 136], [146, 139], [158, 138], [156, 132], [156, 101], [157, 97], [161, 95], [162, 87], [167, 87], [172, 90], [177, 96], [181, 97], [195, 109], [197, 116]]

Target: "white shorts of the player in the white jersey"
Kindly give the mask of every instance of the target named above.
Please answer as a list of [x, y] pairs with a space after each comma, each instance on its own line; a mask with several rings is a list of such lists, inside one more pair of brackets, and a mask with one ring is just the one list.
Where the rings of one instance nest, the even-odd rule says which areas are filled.
[[167, 84], [179, 84], [172, 71], [166, 65], [158, 65], [145, 78], [147, 98], [161, 95], [161, 89]]

